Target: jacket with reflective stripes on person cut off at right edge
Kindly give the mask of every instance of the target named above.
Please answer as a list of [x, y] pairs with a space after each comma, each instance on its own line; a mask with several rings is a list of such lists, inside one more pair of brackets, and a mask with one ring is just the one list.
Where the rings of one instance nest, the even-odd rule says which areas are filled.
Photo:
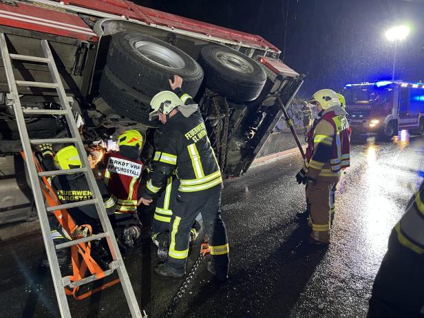
[[407, 204], [406, 212], [394, 230], [403, 246], [415, 253], [424, 253], [424, 182]]

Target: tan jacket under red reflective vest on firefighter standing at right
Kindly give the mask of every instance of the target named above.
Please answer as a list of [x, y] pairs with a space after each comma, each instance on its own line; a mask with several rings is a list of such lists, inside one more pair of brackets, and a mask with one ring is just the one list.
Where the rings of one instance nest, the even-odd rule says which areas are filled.
[[350, 166], [350, 129], [341, 107], [326, 109], [308, 133], [304, 170], [310, 178], [339, 182], [341, 169]]

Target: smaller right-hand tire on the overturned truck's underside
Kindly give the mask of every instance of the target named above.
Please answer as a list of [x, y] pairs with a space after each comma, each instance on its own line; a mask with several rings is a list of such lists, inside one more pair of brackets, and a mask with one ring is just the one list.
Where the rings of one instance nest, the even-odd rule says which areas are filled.
[[235, 102], [254, 100], [262, 92], [266, 73], [248, 56], [222, 45], [206, 45], [198, 59], [206, 87]]

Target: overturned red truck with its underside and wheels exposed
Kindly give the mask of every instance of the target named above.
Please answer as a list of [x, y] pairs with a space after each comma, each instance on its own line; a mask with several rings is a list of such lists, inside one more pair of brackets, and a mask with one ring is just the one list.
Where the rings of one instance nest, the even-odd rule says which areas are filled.
[[[241, 176], [295, 96], [302, 76], [279, 61], [279, 50], [260, 36], [237, 32], [125, 0], [1, 1], [0, 32], [11, 54], [43, 56], [49, 42], [86, 145], [138, 129], [149, 161], [158, 123], [149, 101], [184, 79], [204, 117], [225, 178]], [[36, 61], [13, 61], [17, 81], [50, 81]], [[3, 64], [0, 66], [0, 224], [36, 218]], [[24, 109], [59, 109], [55, 89], [19, 86]], [[31, 138], [67, 136], [64, 116], [26, 119]]]

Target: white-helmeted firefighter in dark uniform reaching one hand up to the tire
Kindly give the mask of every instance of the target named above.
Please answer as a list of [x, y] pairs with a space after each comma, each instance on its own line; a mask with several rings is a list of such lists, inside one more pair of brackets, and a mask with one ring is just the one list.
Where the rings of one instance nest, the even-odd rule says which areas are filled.
[[157, 115], [163, 124], [162, 138], [155, 153], [156, 168], [138, 201], [138, 204], [149, 205], [177, 169], [180, 186], [170, 222], [168, 259], [158, 264], [155, 272], [165, 277], [185, 275], [190, 229], [200, 211], [212, 255], [212, 262], [206, 264], [206, 268], [224, 281], [229, 268], [229, 244], [220, 216], [220, 167], [198, 105], [182, 92], [182, 78], [174, 76], [174, 81], [169, 83], [174, 92], [160, 92], [151, 100], [151, 118]]

